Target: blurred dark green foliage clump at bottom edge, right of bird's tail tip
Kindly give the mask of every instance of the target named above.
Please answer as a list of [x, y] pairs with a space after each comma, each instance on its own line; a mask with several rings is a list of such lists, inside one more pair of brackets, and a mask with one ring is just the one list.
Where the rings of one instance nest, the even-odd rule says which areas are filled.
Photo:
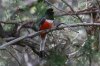
[[48, 57], [48, 64], [50, 66], [63, 66], [66, 62], [66, 56], [59, 52], [51, 52]]

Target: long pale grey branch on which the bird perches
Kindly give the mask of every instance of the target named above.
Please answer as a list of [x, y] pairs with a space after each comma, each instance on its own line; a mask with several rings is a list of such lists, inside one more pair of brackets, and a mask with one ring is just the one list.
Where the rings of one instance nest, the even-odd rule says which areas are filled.
[[77, 24], [68, 24], [66, 26], [63, 26], [63, 27], [57, 27], [57, 28], [52, 28], [52, 29], [49, 29], [49, 30], [42, 30], [42, 31], [38, 31], [37, 33], [31, 33], [31, 34], [28, 34], [28, 35], [24, 35], [24, 36], [21, 36], [21, 37], [18, 37], [12, 41], [9, 41], [5, 44], [1, 44], [0, 46], [0, 49], [4, 49], [5, 47], [9, 46], [9, 45], [12, 45], [20, 40], [23, 40], [25, 38], [28, 38], [28, 37], [36, 37], [38, 36], [41, 32], [45, 31], [46, 33], [49, 33], [51, 31], [54, 31], [54, 30], [62, 30], [64, 28], [67, 28], [67, 27], [78, 27], [78, 26], [100, 26], [100, 23], [77, 23]]

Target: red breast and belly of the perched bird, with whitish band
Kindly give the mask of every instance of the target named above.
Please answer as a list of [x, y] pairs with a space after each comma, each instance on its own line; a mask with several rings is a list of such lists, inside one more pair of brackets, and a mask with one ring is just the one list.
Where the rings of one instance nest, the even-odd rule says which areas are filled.
[[[40, 26], [40, 30], [51, 29], [53, 27], [52, 20], [45, 20], [45, 22]], [[46, 33], [41, 32], [41, 37], [45, 38]]]

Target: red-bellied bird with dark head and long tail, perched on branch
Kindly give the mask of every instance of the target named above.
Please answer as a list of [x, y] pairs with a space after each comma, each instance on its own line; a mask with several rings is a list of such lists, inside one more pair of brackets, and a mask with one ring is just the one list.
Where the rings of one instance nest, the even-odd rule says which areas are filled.
[[[49, 9], [46, 10], [45, 16], [40, 21], [39, 31], [51, 29], [54, 26], [53, 21], [54, 21], [54, 12], [53, 12], [52, 8], [49, 8]], [[47, 37], [47, 35], [46, 35], [45, 32], [40, 33], [40, 38], [41, 38], [40, 55], [41, 56], [43, 56], [43, 54], [44, 54], [46, 37]]]

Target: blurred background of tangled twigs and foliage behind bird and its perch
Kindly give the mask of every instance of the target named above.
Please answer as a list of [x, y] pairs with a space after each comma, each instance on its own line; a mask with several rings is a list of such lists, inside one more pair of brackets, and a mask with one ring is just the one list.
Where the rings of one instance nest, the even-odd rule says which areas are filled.
[[[50, 7], [54, 9], [55, 24], [64, 23], [60, 27], [100, 22], [99, 0], [0, 0], [0, 45], [36, 33], [34, 26], [38, 27]], [[68, 26], [48, 33], [48, 56], [42, 60], [27, 46], [34, 45], [38, 51], [40, 40], [38, 36], [26, 38], [0, 50], [0, 66], [100, 66], [98, 26]]]

